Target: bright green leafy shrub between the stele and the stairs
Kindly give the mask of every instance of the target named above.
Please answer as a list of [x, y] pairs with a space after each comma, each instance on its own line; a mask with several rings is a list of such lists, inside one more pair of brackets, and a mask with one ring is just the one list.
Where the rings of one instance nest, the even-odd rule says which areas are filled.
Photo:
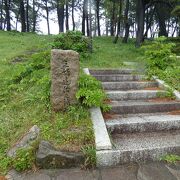
[[107, 96], [102, 90], [100, 82], [86, 74], [80, 76], [76, 98], [87, 107], [101, 107], [103, 111], [108, 111], [110, 108], [105, 105]]

